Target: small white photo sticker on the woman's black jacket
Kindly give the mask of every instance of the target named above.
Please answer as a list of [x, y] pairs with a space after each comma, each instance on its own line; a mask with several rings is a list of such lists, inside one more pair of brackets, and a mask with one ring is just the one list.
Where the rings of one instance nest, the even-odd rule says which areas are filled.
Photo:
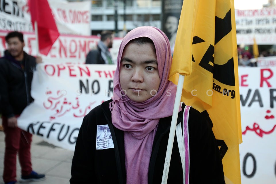
[[109, 148], [114, 148], [114, 144], [108, 124], [97, 125], [96, 149], [104, 150]]

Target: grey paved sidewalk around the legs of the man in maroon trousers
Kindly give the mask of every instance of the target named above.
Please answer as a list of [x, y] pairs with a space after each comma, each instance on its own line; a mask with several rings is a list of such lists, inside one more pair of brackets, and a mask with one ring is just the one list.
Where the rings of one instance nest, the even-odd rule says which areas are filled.
[[[3, 161], [5, 152], [5, 134], [0, 131], [0, 184], [3, 182]], [[71, 177], [71, 162], [74, 152], [55, 147], [43, 141], [41, 137], [33, 135], [31, 156], [32, 167], [37, 173], [46, 176], [44, 181], [30, 182], [33, 184], [69, 184]], [[17, 181], [20, 181], [20, 165], [17, 161], [16, 166]], [[19, 183], [19, 182], [18, 182]]]

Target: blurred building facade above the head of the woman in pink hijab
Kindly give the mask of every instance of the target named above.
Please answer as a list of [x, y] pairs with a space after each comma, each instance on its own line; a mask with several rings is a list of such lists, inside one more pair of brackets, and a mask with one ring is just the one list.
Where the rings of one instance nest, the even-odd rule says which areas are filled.
[[101, 30], [112, 30], [118, 32], [118, 37], [123, 37], [127, 31], [139, 26], [161, 28], [160, 19], [161, 0], [91, 1], [92, 35], [99, 34]]

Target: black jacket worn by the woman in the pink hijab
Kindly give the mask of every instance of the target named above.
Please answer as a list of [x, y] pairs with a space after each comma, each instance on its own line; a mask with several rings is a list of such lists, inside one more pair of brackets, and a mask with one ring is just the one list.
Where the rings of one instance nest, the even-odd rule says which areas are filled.
[[[71, 184], [126, 183], [124, 133], [113, 126], [109, 103], [97, 106], [81, 125], [72, 160]], [[182, 122], [183, 111], [177, 122]], [[148, 183], [161, 183], [171, 116], [160, 119], [150, 158]], [[97, 125], [108, 124], [114, 148], [97, 150]], [[168, 183], [183, 183], [182, 164], [175, 136]], [[191, 108], [189, 113], [190, 183], [225, 183], [218, 145], [209, 124]], [[135, 181], [133, 181], [135, 183]]]

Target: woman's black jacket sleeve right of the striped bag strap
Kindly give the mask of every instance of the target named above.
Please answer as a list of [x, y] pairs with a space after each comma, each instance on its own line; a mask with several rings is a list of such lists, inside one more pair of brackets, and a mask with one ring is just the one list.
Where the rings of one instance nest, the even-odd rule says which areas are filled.
[[[189, 116], [190, 179], [192, 183], [222, 183], [224, 173], [218, 145], [210, 124], [197, 110]], [[193, 162], [193, 163], [192, 163]]]

